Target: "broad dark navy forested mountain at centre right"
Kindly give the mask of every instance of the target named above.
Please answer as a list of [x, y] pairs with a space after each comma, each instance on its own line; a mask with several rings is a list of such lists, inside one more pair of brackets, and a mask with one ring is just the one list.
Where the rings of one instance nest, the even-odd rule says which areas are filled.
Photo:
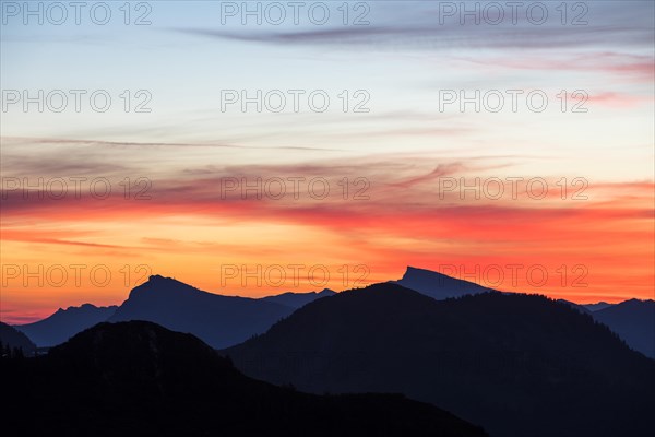
[[311, 392], [401, 392], [498, 437], [646, 436], [655, 362], [543, 296], [434, 300], [395, 283], [306, 305], [224, 351], [246, 375]]

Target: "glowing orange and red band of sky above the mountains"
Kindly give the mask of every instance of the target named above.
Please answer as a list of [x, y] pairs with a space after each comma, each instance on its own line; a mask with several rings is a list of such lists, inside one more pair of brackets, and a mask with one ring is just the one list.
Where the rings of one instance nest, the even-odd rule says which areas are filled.
[[[263, 296], [400, 279], [414, 265], [580, 303], [654, 297], [652, 182], [573, 186], [573, 178], [539, 176], [528, 192], [525, 181], [536, 177], [524, 176], [512, 191], [511, 172], [495, 176], [493, 165], [376, 162], [153, 179], [144, 199], [126, 199], [116, 176], [107, 178], [115, 190], [106, 199], [84, 184], [79, 196], [61, 196], [44, 181], [39, 198], [38, 187], [24, 191], [4, 180], [2, 319], [120, 304], [151, 273]], [[258, 177], [261, 199], [234, 187], [255, 187]], [[277, 177], [324, 180], [311, 192], [287, 181], [276, 199], [278, 179], [277, 187], [264, 181]], [[320, 199], [325, 182], [331, 191]]]

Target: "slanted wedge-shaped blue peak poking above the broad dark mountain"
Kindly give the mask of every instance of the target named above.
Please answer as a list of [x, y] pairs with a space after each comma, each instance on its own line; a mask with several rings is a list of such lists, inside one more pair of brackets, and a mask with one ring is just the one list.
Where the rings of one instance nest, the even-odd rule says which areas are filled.
[[467, 294], [496, 292], [496, 290], [484, 287], [474, 282], [458, 280], [443, 273], [417, 269], [415, 267], [407, 267], [403, 277], [400, 281], [395, 281], [395, 283], [437, 300]]

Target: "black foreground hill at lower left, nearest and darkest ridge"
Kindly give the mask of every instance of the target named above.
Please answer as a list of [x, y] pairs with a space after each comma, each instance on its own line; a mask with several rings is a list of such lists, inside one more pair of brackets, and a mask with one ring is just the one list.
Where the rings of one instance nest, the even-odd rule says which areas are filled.
[[312, 395], [250, 379], [199, 339], [150, 322], [102, 323], [0, 368], [8, 435], [486, 436], [401, 395]]

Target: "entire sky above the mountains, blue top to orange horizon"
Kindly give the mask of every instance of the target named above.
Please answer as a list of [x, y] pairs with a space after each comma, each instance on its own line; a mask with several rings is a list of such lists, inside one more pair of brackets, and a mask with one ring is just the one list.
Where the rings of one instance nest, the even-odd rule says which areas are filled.
[[150, 274], [655, 297], [652, 1], [1, 8], [2, 321]]

